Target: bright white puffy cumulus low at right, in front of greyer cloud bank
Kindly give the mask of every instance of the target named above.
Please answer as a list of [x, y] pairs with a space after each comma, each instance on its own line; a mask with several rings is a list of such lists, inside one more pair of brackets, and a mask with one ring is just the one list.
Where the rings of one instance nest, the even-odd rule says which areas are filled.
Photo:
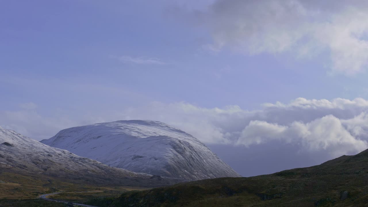
[[[349, 126], [350, 127], [350, 126]], [[242, 131], [236, 144], [252, 144], [282, 140], [300, 144], [300, 150], [326, 151], [331, 157], [355, 154], [368, 148], [367, 140], [355, 138], [335, 116], [328, 115], [309, 123], [293, 122], [288, 126], [251, 121]]]

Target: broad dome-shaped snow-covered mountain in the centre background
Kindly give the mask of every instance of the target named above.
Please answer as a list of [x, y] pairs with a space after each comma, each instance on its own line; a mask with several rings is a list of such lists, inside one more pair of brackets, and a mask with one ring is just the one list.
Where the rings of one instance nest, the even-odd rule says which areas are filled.
[[189, 180], [240, 177], [197, 138], [157, 121], [72, 127], [41, 142], [110, 166], [151, 175]]

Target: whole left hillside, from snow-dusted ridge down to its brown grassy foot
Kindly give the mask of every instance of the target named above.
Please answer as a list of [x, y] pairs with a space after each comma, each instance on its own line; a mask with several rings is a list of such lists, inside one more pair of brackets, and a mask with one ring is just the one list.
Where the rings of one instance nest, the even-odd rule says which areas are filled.
[[58, 189], [157, 187], [182, 181], [110, 167], [0, 127], [0, 199], [33, 198]]

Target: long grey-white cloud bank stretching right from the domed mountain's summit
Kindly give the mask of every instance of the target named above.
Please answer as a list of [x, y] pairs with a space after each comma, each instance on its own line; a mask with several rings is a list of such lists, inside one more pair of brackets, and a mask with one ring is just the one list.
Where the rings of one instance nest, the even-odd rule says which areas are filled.
[[155, 102], [121, 114], [172, 124], [206, 144], [252, 148], [276, 141], [300, 153], [318, 152], [323, 161], [368, 148], [367, 109], [368, 101], [362, 98], [297, 98], [290, 103], [265, 103], [262, 109], [251, 111], [239, 106], [221, 109]]

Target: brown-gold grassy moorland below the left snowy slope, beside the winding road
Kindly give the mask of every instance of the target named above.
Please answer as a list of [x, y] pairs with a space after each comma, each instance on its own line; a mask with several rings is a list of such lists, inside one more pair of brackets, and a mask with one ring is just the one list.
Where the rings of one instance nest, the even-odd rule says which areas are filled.
[[[143, 190], [141, 187], [127, 187], [112, 183], [96, 183], [82, 179], [65, 179], [53, 176], [25, 173], [17, 168], [0, 168], [0, 206], [5, 200], [35, 199], [41, 194], [63, 191], [56, 199], [86, 201], [95, 197], [118, 196], [128, 190]], [[147, 188], [146, 188], [147, 189]], [[90, 192], [95, 193], [75, 193]], [[42, 206], [42, 205], [41, 205]]]

